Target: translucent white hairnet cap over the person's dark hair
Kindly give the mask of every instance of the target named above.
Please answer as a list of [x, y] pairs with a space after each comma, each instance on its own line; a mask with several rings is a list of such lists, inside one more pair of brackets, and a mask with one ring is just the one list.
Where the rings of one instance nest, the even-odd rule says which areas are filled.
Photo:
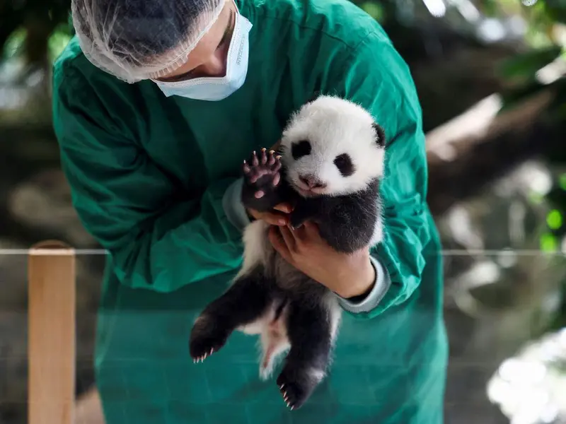
[[72, 0], [71, 12], [86, 58], [135, 83], [183, 65], [224, 1]]

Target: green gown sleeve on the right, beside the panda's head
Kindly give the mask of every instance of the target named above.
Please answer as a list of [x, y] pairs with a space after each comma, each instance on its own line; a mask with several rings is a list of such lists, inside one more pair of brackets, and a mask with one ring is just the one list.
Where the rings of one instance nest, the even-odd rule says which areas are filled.
[[[371, 255], [385, 269], [386, 287], [369, 310], [352, 312], [372, 318], [407, 300], [419, 286], [425, 265], [423, 248], [430, 238], [427, 158], [422, 114], [415, 85], [405, 61], [376, 30], [350, 54], [330, 79], [337, 92], [364, 106], [386, 133], [386, 166], [381, 184], [383, 242]], [[374, 290], [377, 293], [379, 288]]]

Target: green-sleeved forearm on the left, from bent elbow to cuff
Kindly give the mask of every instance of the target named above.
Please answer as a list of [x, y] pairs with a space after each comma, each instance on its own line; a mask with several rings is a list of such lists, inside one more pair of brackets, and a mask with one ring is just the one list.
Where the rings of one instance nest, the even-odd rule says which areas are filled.
[[171, 292], [237, 269], [242, 254], [237, 186], [213, 184], [201, 199], [171, 206], [143, 227], [132, 227], [119, 242], [102, 236], [120, 281], [132, 288]]

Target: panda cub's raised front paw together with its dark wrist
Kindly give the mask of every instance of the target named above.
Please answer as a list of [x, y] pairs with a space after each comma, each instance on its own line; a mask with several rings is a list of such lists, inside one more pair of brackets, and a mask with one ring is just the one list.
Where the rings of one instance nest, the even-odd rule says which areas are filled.
[[267, 211], [277, 202], [277, 186], [281, 181], [281, 156], [262, 148], [243, 162], [244, 186], [242, 200], [246, 207]]

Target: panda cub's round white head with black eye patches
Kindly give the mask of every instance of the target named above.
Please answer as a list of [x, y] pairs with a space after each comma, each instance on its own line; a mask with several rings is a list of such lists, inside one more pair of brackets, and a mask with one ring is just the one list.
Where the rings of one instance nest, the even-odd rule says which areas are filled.
[[383, 175], [381, 127], [359, 105], [320, 95], [295, 112], [281, 140], [286, 177], [301, 196], [339, 196]]

